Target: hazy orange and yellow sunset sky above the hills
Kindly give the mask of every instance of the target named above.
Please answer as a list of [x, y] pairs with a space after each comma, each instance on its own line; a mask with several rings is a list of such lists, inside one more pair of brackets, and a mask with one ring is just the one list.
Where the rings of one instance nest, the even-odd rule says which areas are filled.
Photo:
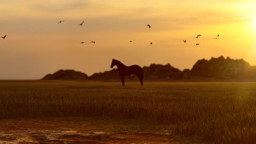
[[180, 70], [219, 56], [256, 65], [256, 0], [0, 0], [0, 11], [0, 79], [92, 75], [113, 58]]

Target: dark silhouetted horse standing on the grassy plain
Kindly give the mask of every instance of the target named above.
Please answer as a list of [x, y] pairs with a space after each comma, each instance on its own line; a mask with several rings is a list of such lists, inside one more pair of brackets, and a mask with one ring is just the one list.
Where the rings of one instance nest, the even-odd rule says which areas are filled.
[[138, 76], [138, 78], [141, 81], [141, 85], [143, 85], [143, 70], [139, 65], [131, 65], [131, 66], [126, 66], [123, 63], [121, 63], [120, 61], [116, 60], [116, 59], [112, 59], [112, 63], [111, 63], [111, 68], [113, 68], [113, 66], [117, 66], [118, 68], [118, 72], [119, 75], [121, 77], [121, 81], [122, 81], [122, 85], [125, 85], [125, 76], [130, 76], [132, 74], [135, 74], [136, 76]]

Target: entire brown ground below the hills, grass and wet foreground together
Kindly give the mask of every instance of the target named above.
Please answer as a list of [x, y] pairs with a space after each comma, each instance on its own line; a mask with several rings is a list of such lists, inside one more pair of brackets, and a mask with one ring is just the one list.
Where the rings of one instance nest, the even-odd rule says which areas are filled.
[[2, 143], [253, 143], [255, 82], [0, 81]]

